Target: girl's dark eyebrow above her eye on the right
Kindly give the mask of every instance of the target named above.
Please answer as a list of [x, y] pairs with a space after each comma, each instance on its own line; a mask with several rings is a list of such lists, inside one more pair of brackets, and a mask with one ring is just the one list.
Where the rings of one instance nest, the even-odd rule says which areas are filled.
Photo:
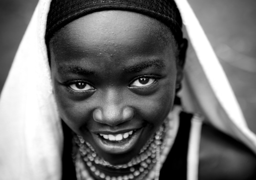
[[157, 59], [157, 60], [152, 60], [152, 61], [145, 61], [141, 62], [135, 65], [132, 65], [130, 67], [126, 67], [123, 69], [124, 72], [126, 73], [138, 73], [141, 72], [144, 69], [147, 69], [149, 67], [154, 66], [157, 69], [162, 69], [165, 67], [165, 64], [163, 60]]

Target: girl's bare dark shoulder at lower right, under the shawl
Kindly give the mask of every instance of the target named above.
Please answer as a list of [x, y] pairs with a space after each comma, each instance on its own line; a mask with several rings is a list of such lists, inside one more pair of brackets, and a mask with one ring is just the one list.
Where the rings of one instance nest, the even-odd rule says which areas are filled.
[[256, 179], [256, 156], [241, 142], [204, 124], [200, 145], [199, 179]]

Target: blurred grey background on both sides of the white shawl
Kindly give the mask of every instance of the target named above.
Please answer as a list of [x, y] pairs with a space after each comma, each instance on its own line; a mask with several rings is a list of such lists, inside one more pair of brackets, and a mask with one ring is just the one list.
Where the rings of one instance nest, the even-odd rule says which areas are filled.
[[[188, 0], [256, 133], [256, 1]], [[36, 0], [0, 0], [0, 91]]]

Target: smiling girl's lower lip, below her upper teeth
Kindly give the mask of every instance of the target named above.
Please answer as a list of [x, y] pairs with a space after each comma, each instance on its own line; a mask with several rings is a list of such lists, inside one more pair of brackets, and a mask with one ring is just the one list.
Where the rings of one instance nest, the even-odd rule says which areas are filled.
[[100, 137], [99, 134], [91, 133], [95, 143], [106, 153], [122, 154], [130, 151], [140, 139], [143, 128], [137, 129], [133, 134], [121, 141], [110, 141]]

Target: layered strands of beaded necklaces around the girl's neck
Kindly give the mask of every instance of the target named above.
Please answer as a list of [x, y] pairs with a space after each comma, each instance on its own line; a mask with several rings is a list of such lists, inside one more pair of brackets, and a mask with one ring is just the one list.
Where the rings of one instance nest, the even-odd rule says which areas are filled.
[[[141, 149], [140, 153], [125, 164], [110, 164], [98, 156], [91, 144], [86, 142], [83, 137], [75, 135], [74, 142], [76, 145], [74, 146], [75, 150], [73, 150], [73, 160], [77, 179], [93, 180], [90, 175], [90, 173], [93, 173], [102, 180], [142, 180], [144, 178], [157, 180], [162, 163], [165, 161], [177, 133], [180, 110], [180, 107], [175, 106], [164, 123]], [[97, 169], [96, 164], [113, 169], [125, 169], [128, 172], [125, 175], [109, 176]]]

